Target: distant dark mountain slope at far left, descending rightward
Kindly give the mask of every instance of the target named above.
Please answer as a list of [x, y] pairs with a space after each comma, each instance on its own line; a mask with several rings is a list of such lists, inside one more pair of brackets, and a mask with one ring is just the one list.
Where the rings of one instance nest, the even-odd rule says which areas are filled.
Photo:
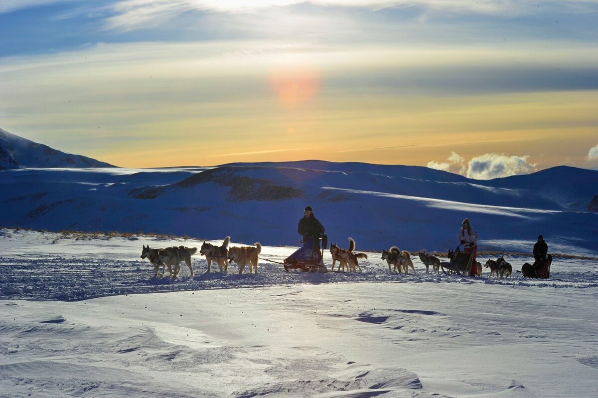
[[91, 157], [65, 153], [0, 129], [0, 170], [103, 167], [116, 166]]

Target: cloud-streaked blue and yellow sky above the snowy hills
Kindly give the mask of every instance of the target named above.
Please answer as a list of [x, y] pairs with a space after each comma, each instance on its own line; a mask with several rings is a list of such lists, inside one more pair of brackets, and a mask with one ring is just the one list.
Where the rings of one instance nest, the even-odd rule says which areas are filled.
[[598, 169], [598, 0], [2, 0], [0, 127], [131, 168]]

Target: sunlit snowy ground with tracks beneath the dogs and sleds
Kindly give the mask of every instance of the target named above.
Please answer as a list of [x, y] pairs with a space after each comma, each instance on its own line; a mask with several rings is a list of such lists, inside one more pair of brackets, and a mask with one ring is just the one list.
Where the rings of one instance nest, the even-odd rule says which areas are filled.
[[173, 281], [139, 258], [201, 243], [0, 230], [0, 397], [598, 390], [596, 260], [555, 259], [541, 281], [426, 275], [415, 257], [417, 275], [389, 274], [380, 253], [304, 274], [275, 263], [294, 248], [264, 247], [258, 275], [206, 275], [196, 255]]

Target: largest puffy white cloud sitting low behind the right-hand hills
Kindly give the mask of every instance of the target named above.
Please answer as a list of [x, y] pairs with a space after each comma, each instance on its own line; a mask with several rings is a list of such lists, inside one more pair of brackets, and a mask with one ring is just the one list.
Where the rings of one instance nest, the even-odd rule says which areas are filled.
[[536, 167], [535, 164], [527, 163], [528, 158], [529, 155], [508, 156], [507, 154], [486, 153], [469, 160], [466, 176], [476, 180], [490, 180], [524, 174], [533, 171]]

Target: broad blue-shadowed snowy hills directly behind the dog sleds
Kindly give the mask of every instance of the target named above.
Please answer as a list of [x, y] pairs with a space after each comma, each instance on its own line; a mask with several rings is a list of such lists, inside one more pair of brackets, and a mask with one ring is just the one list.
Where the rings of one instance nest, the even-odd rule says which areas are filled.
[[564, 166], [492, 181], [416, 166], [312, 160], [15, 169], [0, 172], [6, 209], [0, 226], [297, 245], [297, 223], [310, 205], [329, 242], [346, 245], [351, 236], [358, 250], [446, 251], [469, 217], [486, 250], [529, 252], [542, 233], [552, 251], [583, 254], [598, 253], [598, 214], [587, 211], [596, 187], [598, 171]]

